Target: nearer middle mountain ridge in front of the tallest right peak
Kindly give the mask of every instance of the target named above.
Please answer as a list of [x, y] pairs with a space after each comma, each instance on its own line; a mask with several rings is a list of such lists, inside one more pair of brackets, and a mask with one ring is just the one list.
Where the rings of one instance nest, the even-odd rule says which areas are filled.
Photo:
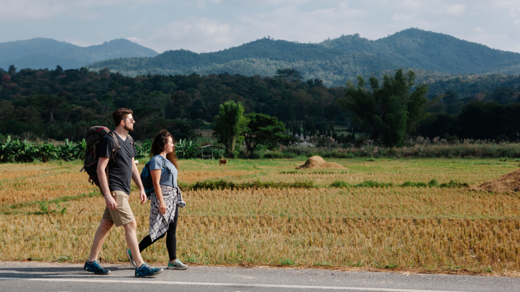
[[305, 79], [320, 78], [327, 85], [344, 85], [352, 76], [393, 70], [398, 65], [368, 52], [345, 54], [318, 44], [263, 38], [218, 52], [197, 54], [182, 49], [170, 50], [154, 58], [112, 59], [86, 66], [90, 70], [107, 67], [128, 76], [224, 72], [272, 76], [279, 68], [295, 68]]

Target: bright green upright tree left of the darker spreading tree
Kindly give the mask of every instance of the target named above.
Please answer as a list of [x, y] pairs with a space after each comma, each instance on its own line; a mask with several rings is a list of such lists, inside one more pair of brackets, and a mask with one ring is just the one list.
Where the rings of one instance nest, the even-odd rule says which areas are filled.
[[227, 101], [220, 104], [218, 115], [214, 118], [213, 130], [218, 141], [227, 149], [228, 157], [235, 157], [235, 144], [242, 142], [240, 134], [246, 129], [248, 120], [243, 116], [244, 108], [240, 102]]

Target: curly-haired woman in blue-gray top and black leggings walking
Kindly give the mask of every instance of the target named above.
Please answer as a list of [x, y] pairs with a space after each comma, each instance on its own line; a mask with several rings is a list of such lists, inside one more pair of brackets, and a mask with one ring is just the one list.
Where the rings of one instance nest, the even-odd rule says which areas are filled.
[[[166, 235], [166, 249], [168, 250], [168, 267], [166, 269], [185, 270], [187, 264], [177, 259], [177, 218], [179, 207], [186, 206], [183, 197], [177, 187], [177, 156], [172, 135], [162, 130], [153, 139], [150, 151], [150, 174], [154, 192], [148, 197], [150, 203], [150, 230], [149, 234], [139, 243], [139, 251], [143, 251], [154, 242]], [[132, 267], [135, 267], [130, 250], [126, 250], [126, 256]]]

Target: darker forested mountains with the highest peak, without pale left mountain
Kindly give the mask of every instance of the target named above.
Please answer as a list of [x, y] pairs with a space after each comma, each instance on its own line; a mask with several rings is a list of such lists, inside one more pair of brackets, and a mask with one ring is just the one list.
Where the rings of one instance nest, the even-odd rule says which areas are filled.
[[154, 58], [122, 58], [87, 65], [110, 68], [128, 76], [150, 74], [230, 74], [272, 76], [279, 68], [295, 68], [305, 79], [344, 85], [358, 74], [380, 75], [396, 68], [419, 72], [419, 79], [451, 74], [520, 72], [520, 54], [489, 48], [441, 33], [407, 29], [375, 41], [359, 34], [318, 44], [257, 39], [229, 49], [197, 54], [165, 51]]

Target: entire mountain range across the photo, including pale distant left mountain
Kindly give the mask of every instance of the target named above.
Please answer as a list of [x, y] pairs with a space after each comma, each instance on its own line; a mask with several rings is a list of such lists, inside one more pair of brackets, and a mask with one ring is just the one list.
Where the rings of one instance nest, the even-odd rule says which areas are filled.
[[99, 46], [78, 47], [53, 39], [35, 38], [0, 44], [0, 68], [110, 68], [127, 76], [147, 74], [242, 74], [273, 76], [277, 69], [294, 68], [303, 78], [345, 85], [355, 76], [381, 76], [396, 68], [413, 69], [419, 82], [431, 83], [456, 74], [520, 73], [520, 54], [492, 49], [450, 35], [406, 29], [374, 41], [359, 34], [342, 35], [321, 43], [256, 39], [216, 52], [168, 50], [162, 54], [115, 39]]

